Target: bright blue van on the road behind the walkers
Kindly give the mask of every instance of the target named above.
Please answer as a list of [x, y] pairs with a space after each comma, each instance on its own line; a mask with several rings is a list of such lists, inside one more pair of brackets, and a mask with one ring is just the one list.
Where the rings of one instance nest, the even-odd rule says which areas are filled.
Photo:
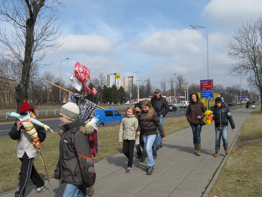
[[116, 109], [96, 109], [95, 117], [99, 116], [98, 127], [120, 125], [123, 115]]

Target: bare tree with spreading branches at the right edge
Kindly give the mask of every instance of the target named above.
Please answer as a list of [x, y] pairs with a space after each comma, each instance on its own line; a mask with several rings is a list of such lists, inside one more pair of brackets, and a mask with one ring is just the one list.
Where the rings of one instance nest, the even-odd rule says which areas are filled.
[[[233, 39], [227, 44], [228, 58], [232, 58], [233, 63], [228, 74], [231, 76], [248, 75], [252, 73], [254, 84], [262, 96], [262, 17], [254, 23], [242, 22], [241, 29], [235, 31]], [[262, 103], [262, 102], [261, 102]], [[261, 109], [262, 111], [262, 105]]]

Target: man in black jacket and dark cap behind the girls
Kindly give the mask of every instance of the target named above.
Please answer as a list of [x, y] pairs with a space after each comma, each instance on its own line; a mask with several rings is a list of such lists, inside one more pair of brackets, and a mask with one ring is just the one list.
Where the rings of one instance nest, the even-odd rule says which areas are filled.
[[[169, 112], [169, 106], [168, 106], [168, 103], [167, 103], [165, 97], [161, 96], [160, 89], [155, 90], [155, 96], [153, 98], [151, 98], [151, 105], [153, 106], [153, 109], [157, 113], [159, 120], [162, 124], [162, 127], [164, 127], [165, 115]], [[157, 158], [157, 149], [162, 148], [162, 146], [163, 146], [161, 136], [158, 135], [158, 133], [157, 133], [157, 136], [156, 136], [156, 141], [157, 142], [155, 142], [153, 144], [153, 147], [154, 147], [153, 148], [153, 158], [154, 159]], [[155, 144], [157, 144], [157, 146]]]

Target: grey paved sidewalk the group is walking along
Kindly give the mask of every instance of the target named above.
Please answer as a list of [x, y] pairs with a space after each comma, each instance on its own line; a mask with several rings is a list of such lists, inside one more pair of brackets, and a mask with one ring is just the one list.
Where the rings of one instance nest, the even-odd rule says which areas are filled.
[[[236, 129], [228, 127], [228, 146], [231, 152], [242, 125], [252, 109], [237, 109], [231, 112]], [[188, 124], [188, 122], [185, 122]], [[174, 125], [175, 127], [175, 125]], [[228, 155], [225, 155], [221, 140], [220, 156], [215, 153], [215, 127], [205, 125], [201, 131], [201, 155], [194, 154], [191, 127], [166, 136], [163, 148], [157, 151], [153, 174], [146, 175], [147, 160], [134, 159], [133, 170], [125, 173], [127, 158], [123, 153], [114, 154], [95, 162], [96, 182], [94, 197], [197, 197], [207, 196], [215, 183]], [[136, 153], [134, 151], [134, 157]], [[55, 166], [54, 166], [55, 167]], [[26, 196], [61, 197], [65, 184], [51, 178], [51, 186], [45, 180], [47, 192], [36, 193], [35, 185], [26, 187]], [[14, 197], [14, 192], [0, 194], [1, 197]]]

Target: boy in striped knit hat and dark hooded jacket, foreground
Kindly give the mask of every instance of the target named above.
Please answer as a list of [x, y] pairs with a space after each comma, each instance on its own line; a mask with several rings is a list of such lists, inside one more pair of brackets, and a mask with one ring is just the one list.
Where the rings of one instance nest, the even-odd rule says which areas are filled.
[[79, 108], [72, 102], [63, 105], [59, 114], [63, 133], [54, 178], [66, 183], [63, 196], [84, 196], [79, 186], [85, 183], [86, 187], [90, 187], [96, 179], [87, 133], [82, 129], [85, 123], [77, 120]]

